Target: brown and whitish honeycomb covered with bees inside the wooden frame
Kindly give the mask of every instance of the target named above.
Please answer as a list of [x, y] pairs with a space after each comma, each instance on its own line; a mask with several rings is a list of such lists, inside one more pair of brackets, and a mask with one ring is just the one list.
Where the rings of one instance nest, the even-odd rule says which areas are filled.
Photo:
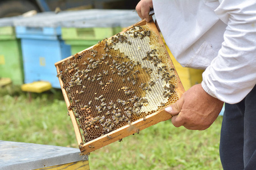
[[63, 88], [84, 142], [155, 113], [178, 99], [170, 58], [147, 25], [133, 26], [63, 61]]

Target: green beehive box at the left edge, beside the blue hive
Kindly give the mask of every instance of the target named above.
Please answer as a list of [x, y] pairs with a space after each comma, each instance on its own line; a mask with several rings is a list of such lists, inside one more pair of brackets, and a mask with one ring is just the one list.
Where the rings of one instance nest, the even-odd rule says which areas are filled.
[[20, 40], [15, 37], [13, 20], [0, 19], [0, 78], [10, 78], [13, 84], [23, 84], [23, 62]]

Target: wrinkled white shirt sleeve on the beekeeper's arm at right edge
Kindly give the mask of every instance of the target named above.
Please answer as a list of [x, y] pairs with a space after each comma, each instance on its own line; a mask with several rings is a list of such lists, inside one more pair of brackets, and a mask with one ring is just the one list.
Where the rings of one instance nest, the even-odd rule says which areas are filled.
[[202, 87], [209, 95], [234, 104], [256, 84], [256, 3], [222, 0], [215, 10], [227, 24], [217, 57], [203, 73]]

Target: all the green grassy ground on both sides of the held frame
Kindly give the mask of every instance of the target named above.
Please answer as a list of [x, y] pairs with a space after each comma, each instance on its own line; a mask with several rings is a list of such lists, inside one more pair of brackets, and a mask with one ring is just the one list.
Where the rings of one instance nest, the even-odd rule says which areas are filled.
[[[77, 147], [59, 90], [44, 94], [0, 90], [0, 140]], [[90, 169], [222, 169], [218, 155], [222, 117], [204, 131], [171, 121], [142, 130], [89, 155]]]

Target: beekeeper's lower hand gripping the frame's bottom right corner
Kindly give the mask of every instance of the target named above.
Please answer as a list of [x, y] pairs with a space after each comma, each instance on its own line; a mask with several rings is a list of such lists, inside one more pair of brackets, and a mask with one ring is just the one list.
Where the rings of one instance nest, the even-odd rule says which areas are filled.
[[165, 110], [173, 116], [172, 124], [175, 127], [205, 130], [216, 120], [222, 106], [223, 101], [210, 96], [201, 84], [196, 84]]

